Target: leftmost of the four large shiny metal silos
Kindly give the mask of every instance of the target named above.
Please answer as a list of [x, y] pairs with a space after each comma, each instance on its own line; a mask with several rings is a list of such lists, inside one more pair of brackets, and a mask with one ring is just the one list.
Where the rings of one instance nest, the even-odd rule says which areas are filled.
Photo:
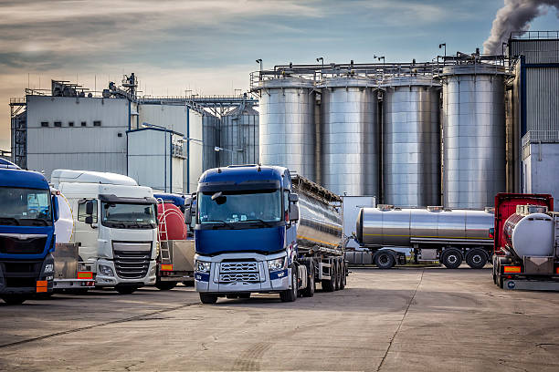
[[315, 93], [312, 81], [273, 78], [261, 81], [259, 89], [260, 162], [287, 167], [315, 181]]

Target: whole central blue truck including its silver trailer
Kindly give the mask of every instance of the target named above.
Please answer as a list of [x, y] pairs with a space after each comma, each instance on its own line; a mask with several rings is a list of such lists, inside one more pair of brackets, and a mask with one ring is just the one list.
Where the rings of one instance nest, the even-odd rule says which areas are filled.
[[[206, 171], [195, 195], [195, 289], [218, 297], [277, 293], [282, 301], [343, 289], [342, 199], [281, 167]], [[186, 213], [190, 222], [192, 213]]]

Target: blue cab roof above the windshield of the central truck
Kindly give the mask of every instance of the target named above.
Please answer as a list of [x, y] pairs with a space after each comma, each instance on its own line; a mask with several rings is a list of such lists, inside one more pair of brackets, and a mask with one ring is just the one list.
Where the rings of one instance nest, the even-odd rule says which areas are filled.
[[263, 184], [290, 189], [290, 171], [284, 167], [260, 165], [230, 165], [213, 168], [200, 176], [198, 191], [261, 188]]

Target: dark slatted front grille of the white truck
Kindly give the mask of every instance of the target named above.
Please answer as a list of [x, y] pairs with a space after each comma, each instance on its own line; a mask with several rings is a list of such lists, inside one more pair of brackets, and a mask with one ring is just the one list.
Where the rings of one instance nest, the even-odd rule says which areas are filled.
[[122, 279], [141, 279], [147, 275], [152, 243], [112, 243], [114, 268]]

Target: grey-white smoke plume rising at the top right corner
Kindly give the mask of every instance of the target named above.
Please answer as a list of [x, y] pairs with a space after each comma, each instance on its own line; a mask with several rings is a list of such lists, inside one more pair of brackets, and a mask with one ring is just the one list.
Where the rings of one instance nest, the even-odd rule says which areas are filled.
[[491, 35], [483, 43], [483, 53], [501, 54], [502, 43], [512, 31], [528, 31], [533, 18], [547, 13], [550, 6], [558, 10], [559, 16], [559, 0], [504, 0], [493, 20]]

